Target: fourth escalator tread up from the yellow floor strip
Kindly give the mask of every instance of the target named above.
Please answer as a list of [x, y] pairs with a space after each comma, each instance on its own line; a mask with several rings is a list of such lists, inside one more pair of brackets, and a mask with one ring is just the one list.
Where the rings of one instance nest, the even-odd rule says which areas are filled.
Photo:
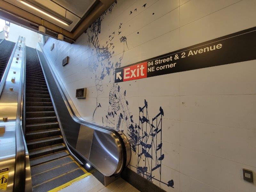
[[43, 163], [52, 161], [54, 159], [58, 159], [58, 158], [68, 156], [68, 155], [69, 155], [68, 151], [64, 150], [64, 151], [58, 151], [58, 152], [51, 153], [51, 154], [48, 154], [48, 155], [36, 157], [36, 158], [33, 158], [33, 159], [29, 160], [30, 161], [30, 166], [32, 167], [32, 166], [36, 166], [38, 164], [43, 164]]

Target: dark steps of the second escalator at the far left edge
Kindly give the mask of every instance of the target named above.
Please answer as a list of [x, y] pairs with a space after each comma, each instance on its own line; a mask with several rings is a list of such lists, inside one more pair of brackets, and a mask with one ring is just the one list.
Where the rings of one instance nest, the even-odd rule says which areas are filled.
[[0, 44], [0, 81], [4, 75], [5, 68], [8, 64], [15, 43], [4, 39]]

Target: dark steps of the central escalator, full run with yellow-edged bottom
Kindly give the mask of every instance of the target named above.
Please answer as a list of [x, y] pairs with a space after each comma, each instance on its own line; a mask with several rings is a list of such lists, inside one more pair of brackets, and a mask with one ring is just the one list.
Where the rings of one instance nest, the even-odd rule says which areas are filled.
[[69, 154], [36, 49], [26, 47], [26, 143], [33, 191], [49, 191], [87, 172]]

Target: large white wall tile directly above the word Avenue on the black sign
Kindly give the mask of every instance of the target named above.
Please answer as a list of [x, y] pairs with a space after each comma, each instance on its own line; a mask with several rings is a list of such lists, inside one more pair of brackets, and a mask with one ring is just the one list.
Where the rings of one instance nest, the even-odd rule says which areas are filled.
[[182, 26], [180, 28], [181, 46], [188, 47], [254, 27], [256, 20], [252, 18], [256, 17], [255, 4], [254, 0], [243, 0]]

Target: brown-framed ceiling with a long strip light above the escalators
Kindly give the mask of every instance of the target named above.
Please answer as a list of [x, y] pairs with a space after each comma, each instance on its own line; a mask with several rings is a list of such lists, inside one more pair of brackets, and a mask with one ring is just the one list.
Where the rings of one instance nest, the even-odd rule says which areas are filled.
[[[115, 0], [0, 0], [0, 18], [74, 42]], [[57, 19], [56, 19], [57, 18]]]

